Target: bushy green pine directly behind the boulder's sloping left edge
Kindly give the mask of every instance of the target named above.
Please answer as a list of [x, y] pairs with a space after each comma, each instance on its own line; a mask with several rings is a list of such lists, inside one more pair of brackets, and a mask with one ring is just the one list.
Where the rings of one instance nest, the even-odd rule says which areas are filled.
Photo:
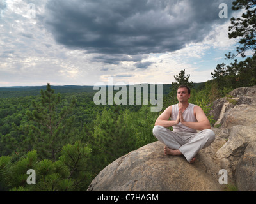
[[136, 147], [134, 135], [125, 126], [123, 115], [120, 106], [115, 106], [104, 110], [95, 120], [92, 162], [95, 163], [93, 166], [97, 166], [97, 171]]

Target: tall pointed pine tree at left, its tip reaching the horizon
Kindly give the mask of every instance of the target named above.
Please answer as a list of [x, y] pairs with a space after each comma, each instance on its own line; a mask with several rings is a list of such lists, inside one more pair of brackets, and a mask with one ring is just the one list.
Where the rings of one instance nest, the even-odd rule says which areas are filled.
[[31, 149], [36, 149], [42, 158], [55, 161], [63, 145], [70, 141], [72, 117], [68, 115], [76, 103], [72, 98], [70, 105], [60, 108], [60, 94], [54, 94], [50, 84], [45, 91], [41, 90], [41, 101], [33, 101], [34, 110], [26, 113], [29, 120], [35, 122], [29, 127]]

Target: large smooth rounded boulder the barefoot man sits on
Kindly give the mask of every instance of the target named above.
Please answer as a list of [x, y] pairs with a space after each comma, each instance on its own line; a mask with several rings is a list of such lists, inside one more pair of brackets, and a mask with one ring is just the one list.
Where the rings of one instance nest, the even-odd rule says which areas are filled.
[[88, 191], [221, 191], [219, 168], [204, 154], [194, 164], [165, 156], [163, 143], [150, 143], [102, 170]]

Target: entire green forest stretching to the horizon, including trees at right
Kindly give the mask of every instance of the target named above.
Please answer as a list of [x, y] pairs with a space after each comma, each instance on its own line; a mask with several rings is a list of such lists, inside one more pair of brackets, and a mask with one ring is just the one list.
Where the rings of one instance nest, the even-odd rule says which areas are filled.
[[[163, 108], [177, 103], [177, 87], [191, 87], [189, 103], [200, 106], [211, 125], [211, 103], [236, 89], [256, 85], [254, 1], [235, 1], [243, 20], [232, 18], [230, 38], [239, 38], [230, 64], [218, 64], [212, 80], [193, 83], [186, 69], [163, 85]], [[242, 23], [243, 21], [243, 23]], [[250, 25], [250, 26], [248, 26]], [[245, 52], [252, 50], [251, 57]], [[86, 191], [109, 163], [156, 141], [152, 128], [161, 112], [151, 105], [95, 105], [93, 87], [0, 87], [0, 191]], [[141, 90], [141, 92], [143, 92]], [[36, 184], [29, 184], [28, 170]]]

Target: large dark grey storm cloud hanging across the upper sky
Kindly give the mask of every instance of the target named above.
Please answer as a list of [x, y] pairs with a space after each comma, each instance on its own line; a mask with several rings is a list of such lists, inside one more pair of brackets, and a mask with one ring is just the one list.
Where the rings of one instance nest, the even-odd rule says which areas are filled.
[[[213, 24], [223, 24], [218, 8], [230, 0], [49, 1], [42, 20], [55, 40], [90, 53], [140, 55], [179, 50], [202, 41]], [[118, 56], [117, 56], [118, 57]], [[121, 59], [99, 61], [118, 64]]]

